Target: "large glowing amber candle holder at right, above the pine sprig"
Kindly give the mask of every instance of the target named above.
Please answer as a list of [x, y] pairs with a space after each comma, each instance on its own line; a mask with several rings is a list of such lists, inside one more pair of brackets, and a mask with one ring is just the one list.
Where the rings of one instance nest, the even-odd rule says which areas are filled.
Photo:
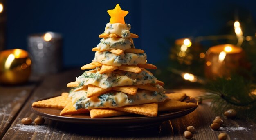
[[205, 60], [207, 78], [230, 76], [241, 66], [243, 50], [232, 44], [213, 46], [208, 49]]

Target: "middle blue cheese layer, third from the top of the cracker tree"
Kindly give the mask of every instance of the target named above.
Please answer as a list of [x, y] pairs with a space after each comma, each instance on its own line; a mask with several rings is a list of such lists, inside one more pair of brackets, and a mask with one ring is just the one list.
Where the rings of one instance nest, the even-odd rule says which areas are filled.
[[97, 51], [95, 53], [94, 60], [92, 61], [111, 66], [121, 66], [122, 64], [146, 64], [146, 59], [146, 53], [123, 53], [121, 55], [117, 55], [108, 51]]

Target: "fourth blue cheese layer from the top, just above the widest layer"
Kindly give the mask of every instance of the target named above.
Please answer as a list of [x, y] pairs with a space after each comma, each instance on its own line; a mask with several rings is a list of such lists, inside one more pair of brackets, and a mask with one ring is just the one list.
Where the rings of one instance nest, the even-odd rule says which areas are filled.
[[111, 73], [99, 74], [99, 71], [85, 71], [81, 76], [76, 78], [79, 85], [92, 84], [103, 89], [117, 86], [130, 86], [138, 84], [155, 84], [156, 78], [146, 70], [141, 73], [132, 73], [127, 71], [112, 71]]

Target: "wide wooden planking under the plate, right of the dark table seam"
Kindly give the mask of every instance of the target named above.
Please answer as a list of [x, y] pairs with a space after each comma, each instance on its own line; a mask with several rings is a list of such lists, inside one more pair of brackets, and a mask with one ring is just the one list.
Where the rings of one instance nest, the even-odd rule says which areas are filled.
[[[29, 126], [20, 123], [21, 118], [36, 118], [36, 115], [30, 111], [31, 103], [43, 97], [60, 95], [61, 92], [68, 91], [66, 84], [74, 81], [76, 76], [81, 75], [82, 71], [67, 71], [55, 76], [45, 78], [43, 83], [38, 87], [25, 107], [20, 111], [18, 117], [13, 122], [3, 139], [49, 139], [49, 140], [130, 140], [130, 139], [146, 139], [146, 140], [186, 140], [183, 132], [186, 127], [193, 125], [197, 131], [194, 139], [197, 140], [216, 140], [220, 132], [228, 134], [228, 140], [253, 140], [256, 138], [256, 124], [246, 120], [224, 119], [222, 130], [213, 131], [210, 124], [215, 118], [211, 112], [209, 102], [203, 102], [193, 113], [181, 118], [163, 122], [159, 127], [146, 130], [135, 131], [91, 131], [86, 125], [67, 124], [46, 120], [44, 125]], [[200, 89], [182, 89], [177, 92], [185, 92], [189, 96], [198, 96], [202, 94]], [[237, 127], [239, 126], [239, 127]], [[238, 130], [237, 128], [243, 130]], [[234, 129], [234, 130], [233, 130]], [[250, 137], [247, 137], [250, 136]]]

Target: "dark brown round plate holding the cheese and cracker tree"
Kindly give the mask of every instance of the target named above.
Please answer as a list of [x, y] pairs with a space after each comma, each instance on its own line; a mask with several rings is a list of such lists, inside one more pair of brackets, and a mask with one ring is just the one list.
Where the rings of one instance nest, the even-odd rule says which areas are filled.
[[[56, 96], [47, 97], [47, 98], [43, 98], [43, 99], [40, 99], [40, 100], [46, 100], [46, 99], [53, 98], [53, 97], [56, 97]], [[198, 102], [194, 98], [186, 96], [186, 99], [187, 98], [189, 98], [189, 100], [191, 102], [197, 103], [197, 105], [198, 105]], [[187, 101], [187, 100], [185, 100], [185, 101]], [[150, 120], [153, 120], [153, 122], [163, 122], [163, 121], [170, 120], [170, 119], [173, 119], [173, 118], [179, 118], [181, 116], [185, 116], [185, 115], [193, 112], [197, 107], [191, 107], [189, 109], [184, 109], [184, 110], [181, 110], [181, 111], [167, 112], [165, 114], [161, 114], [161, 115], [158, 115], [158, 116], [155, 116], [155, 117], [153, 117], [153, 116], [144, 116], [144, 117], [132, 117], [132, 118], [111, 118], [111, 117], [109, 117], [109, 118], [78, 118], [78, 117], [70, 117], [70, 116], [57, 116], [57, 115], [37, 111], [34, 108], [38, 108], [38, 107], [32, 107], [31, 106], [31, 110], [35, 114], [37, 114], [39, 116], [42, 116], [42, 117], [45, 117], [45, 118], [48, 118], [50, 120], [57, 120], [57, 121], [71, 122], [71, 123], [81, 123], [81, 121], [82, 121], [83, 124], [94, 124], [94, 123], [97, 124], [97, 122], [94, 122], [94, 123], [90, 122], [89, 123], [88, 121], [98, 120], [101, 123], [105, 122], [104, 124], [109, 124], [111, 122], [121, 121], [121, 120], [123, 120], [123, 121], [124, 120], [125, 121], [147, 120], [146, 122], [148, 122]], [[178, 116], [175, 116], [175, 115], [178, 115]], [[141, 122], [141, 123], [138, 123], [138, 124], [145, 124], [146, 122]], [[101, 125], [103, 125], [103, 124], [101, 124]]]

